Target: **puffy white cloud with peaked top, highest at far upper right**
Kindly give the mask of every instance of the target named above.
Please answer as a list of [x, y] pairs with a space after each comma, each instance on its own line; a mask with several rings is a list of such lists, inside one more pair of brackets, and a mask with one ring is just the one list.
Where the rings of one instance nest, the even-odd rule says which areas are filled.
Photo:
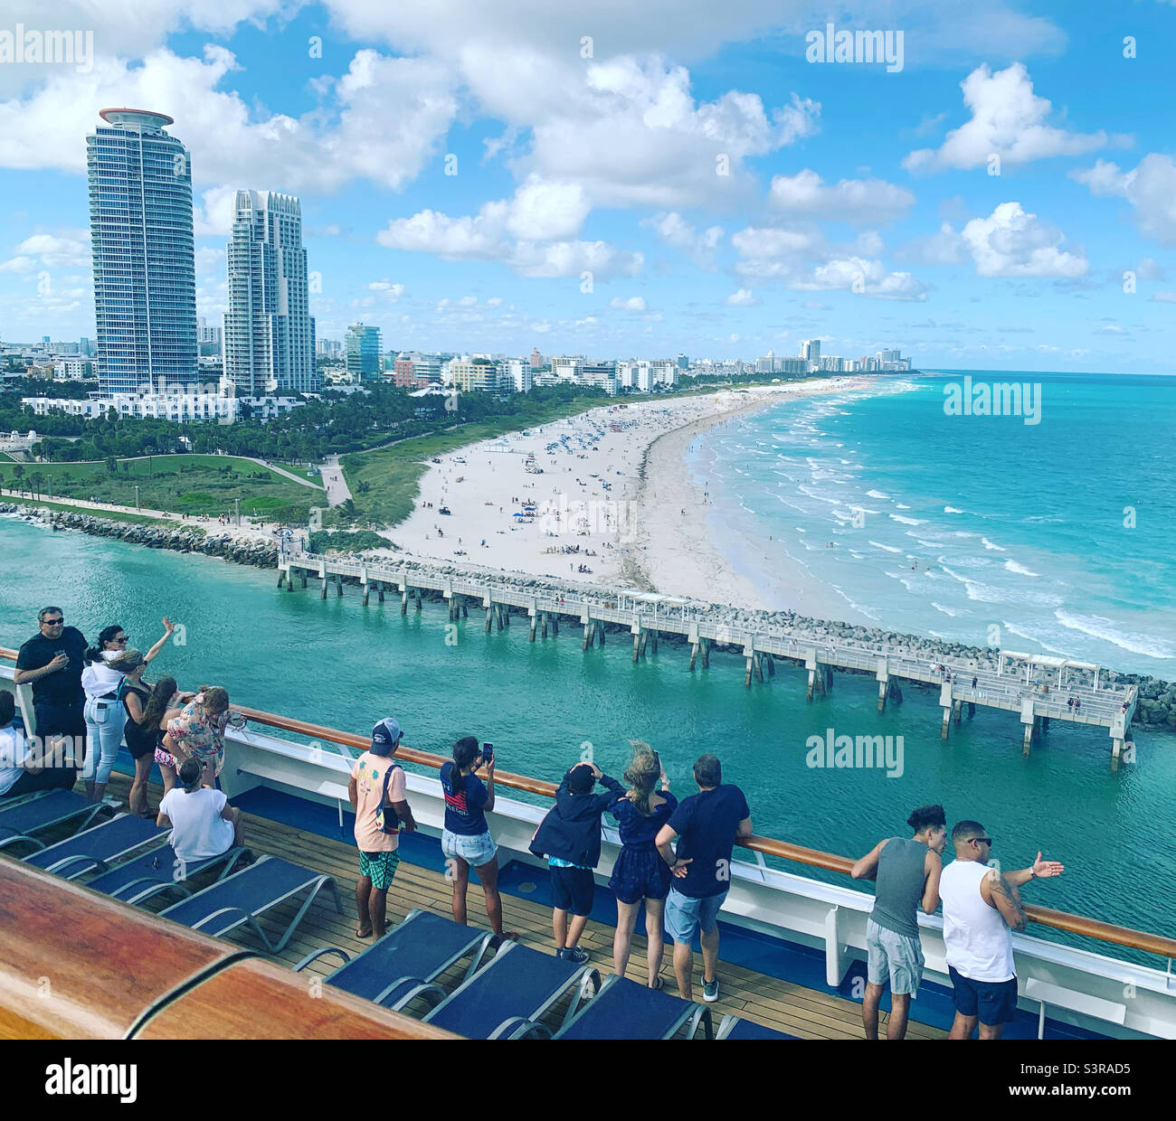
[[911, 152], [902, 166], [908, 172], [967, 170], [996, 154], [1007, 163], [1028, 163], [1058, 155], [1084, 155], [1108, 143], [1122, 142], [1107, 133], [1071, 133], [1045, 123], [1053, 106], [1033, 92], [1022, 62], [995, 74], [987, 63], [962, 82], [971, 120], [948, 133], [940, 148]]

